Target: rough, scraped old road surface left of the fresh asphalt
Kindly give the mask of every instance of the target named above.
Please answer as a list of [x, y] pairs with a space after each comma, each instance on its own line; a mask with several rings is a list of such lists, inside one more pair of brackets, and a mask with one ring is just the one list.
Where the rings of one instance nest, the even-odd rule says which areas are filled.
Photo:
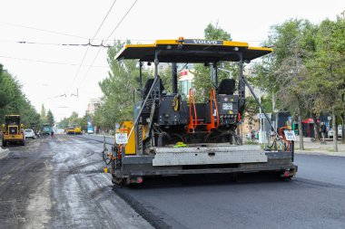
[[0, 228], [152, 228], [114, 194], [102, 144], [57, 135], [9, 149], [0, 159]]

